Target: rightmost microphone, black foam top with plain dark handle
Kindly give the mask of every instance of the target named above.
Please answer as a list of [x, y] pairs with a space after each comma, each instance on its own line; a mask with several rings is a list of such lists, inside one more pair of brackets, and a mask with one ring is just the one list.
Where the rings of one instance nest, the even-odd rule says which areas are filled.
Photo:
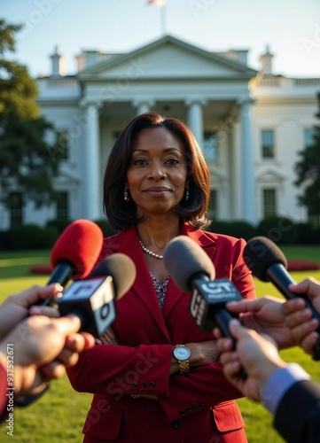
[[[289, 290], [289, 284], [296, 284], [293, 277], [287, 271], [285, 254], [267, 237], [253, 237], [248, 240], [244, 249], [246, 266], [251, 269], [254, 276], [262, 282], [271, 282], [285, 299], [304, 299], [313, 317], [320, 322], [320, 315], [312, 306], [307, 294], [295, 294]], [[320, 326], [317, 329], [320, 334]], [[320, 360], [320, 338], [314, 346], [312, 358]]]

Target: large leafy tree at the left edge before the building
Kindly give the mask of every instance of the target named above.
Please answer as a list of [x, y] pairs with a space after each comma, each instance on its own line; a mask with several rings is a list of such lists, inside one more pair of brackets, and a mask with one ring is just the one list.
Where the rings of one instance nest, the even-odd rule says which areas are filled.
[[56, 198], [53, 180], [66, 146], [51, 123], [39, 116], [37, 88], [27, 67], [4, 58], [14, 51], [19, 25], [0, 19], [0, 189], [10, 207], [10, 192], [19, 191], [22, 203], [50, 205]]

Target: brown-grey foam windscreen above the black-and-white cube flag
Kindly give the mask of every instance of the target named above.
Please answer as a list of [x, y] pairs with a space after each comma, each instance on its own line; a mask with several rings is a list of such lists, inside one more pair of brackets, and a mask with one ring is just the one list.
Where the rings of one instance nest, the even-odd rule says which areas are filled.
[[113, 253], [100, 261], [90, 273], [90, 277], [112, 276], [115, 298], [121, 299], [136, 279], [135, 263], [124, 253]]

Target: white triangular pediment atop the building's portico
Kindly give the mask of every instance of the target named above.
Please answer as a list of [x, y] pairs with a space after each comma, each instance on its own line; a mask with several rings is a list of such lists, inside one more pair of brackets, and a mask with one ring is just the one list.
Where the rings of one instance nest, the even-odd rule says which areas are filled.
[[251, 79], [254, 69], [215, 53], [204, 51], [172, 36], [90, 66], [78, 74], [81, 81], [114, 79]]

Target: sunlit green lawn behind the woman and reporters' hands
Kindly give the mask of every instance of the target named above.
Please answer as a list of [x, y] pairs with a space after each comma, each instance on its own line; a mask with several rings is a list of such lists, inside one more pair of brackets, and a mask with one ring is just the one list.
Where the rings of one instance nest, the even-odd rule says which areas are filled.
[[[320, 263], [319, 246], [286, 246], [282, 248], [288, 259], [315, 260]], [[0, 301], [7, 295], [20, 291], [32, 284], [45, 284], [47, 276], [29, 274], [32, 265], [49, 263], [49, 252], [0, 253]], [[320, 271], [294, 272], [299, 282], [312, 275], [320, 280]], [[257, 295], [281, 297], [271, 285], [256, 281]], [[318, 364], [299, 348], [282, 352], [285, 361], [297, 361], [320, 382]], [[66, 377], [51, 382], [51, 389], [41, 400], [28, 408], [14, 410], [14, 437], [20, 443], [80, 443], [82, 424], [90, 406], [91, 394], [74, 392]], [[272, 428], [272, 417], [260, 404], [250, 400], [238, 400], [246, 422], [246, 433], [250, 443], [283, 442]], [[0, 441], [12, 442], [6, 435], [5, 423], [0, 426]]]

